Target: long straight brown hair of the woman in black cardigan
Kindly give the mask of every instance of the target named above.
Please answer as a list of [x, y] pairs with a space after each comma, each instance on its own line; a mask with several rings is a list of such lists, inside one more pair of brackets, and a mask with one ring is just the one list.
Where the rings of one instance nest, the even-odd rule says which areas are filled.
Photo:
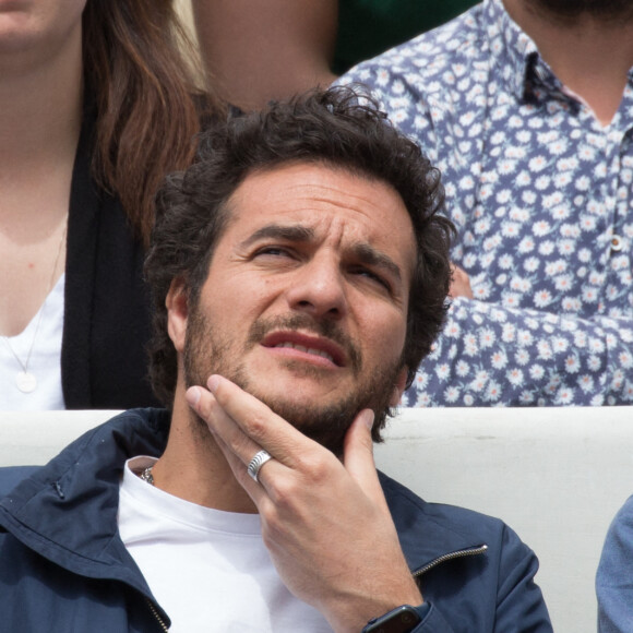
[[156, 190], [190, 164], [201, 116], [222, 106], [195, 87], [193, 47], [172, 0], [87, 0], [82, 28], [97, 117], [93, 174], [147, 244]]

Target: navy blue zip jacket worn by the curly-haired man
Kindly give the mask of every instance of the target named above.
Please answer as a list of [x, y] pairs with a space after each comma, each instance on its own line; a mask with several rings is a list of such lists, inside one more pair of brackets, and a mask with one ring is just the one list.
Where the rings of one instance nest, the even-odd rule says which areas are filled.
[[[117, 507], [126, 459], [159, 456], [168, 430], [166, 411], [131, 410], [47, 466], [0, 469], [0, 629], [166, 630], [167, 613], [119, 537]], [[431, 605], [416, 632], [551, 632], [533, 581], [536, 557], [501, 521], [426, 503], [383, 475], [381, 481]]]

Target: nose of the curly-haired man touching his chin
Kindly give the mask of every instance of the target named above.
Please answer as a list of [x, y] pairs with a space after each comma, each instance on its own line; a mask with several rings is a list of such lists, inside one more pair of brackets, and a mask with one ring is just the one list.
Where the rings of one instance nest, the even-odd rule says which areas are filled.
[[347, 312], [345, 278], [334, 258], [314, 258], [294, 275], [286, 297], [292, 310], [341, 319]]

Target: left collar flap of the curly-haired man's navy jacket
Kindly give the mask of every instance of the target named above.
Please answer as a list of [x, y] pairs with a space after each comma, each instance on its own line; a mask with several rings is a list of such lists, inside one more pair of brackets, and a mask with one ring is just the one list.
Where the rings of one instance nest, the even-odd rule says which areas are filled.
[[0, 500], [0, 530], [61, 568], [121, 581], [154, 601], [118, 538], [119, 481], [129, 457], [162, 454], [168, 430], [162, 409], [127, 411], [92, 429]]

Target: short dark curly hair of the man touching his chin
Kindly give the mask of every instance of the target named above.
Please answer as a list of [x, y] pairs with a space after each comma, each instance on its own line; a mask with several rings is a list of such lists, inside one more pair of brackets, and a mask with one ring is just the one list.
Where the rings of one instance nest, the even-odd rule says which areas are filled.
[[311, 91], [271, 103], [260, 112], [215, 122], [202, 134], [193, 165], [169, 176], [158, 192], [145, 275], [155, 308], [150, 371], [166, 405], [171, 404], [177, 378], [165, 307], [171, 282], [183, 279], [188, 300], [195, 306], [211, 255], [230, 220], [228, 203], [236, 189], [256, 170], [302, 162], [378, 179], [398, 192], [417, 243], [402, 355], [407, 386], [430, 351], [445, 319], [454, 234], [439, 213], [444, 203], [440, 172], [358, 86]]

